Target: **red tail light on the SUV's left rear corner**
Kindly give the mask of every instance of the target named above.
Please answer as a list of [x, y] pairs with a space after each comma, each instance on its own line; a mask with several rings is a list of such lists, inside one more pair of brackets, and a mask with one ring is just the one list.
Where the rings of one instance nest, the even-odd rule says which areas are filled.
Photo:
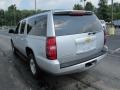
[[57, 59], [56, 37], [48, 37], [47, 38], [46, 57], [50, 60]]

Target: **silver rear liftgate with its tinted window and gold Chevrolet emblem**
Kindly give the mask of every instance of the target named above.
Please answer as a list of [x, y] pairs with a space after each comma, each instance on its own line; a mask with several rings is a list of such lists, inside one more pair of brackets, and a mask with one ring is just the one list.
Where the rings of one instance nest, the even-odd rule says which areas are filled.
[[54, 23], [60, 63], [82, 60], [102, 50], [104, 34], [95, 15], [54, 15]]

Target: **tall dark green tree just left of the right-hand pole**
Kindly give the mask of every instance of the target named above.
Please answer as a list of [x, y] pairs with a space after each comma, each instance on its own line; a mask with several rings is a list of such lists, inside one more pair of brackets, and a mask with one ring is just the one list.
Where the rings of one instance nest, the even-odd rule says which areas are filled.
[[97, 12], [97, 16], [100, 18], [100, 19], [103, 19], [105, 21], [109, 21], [110, 19], [110, 14], [111, 12], [109, 12], [109, 8], [108, 8], [108, 5], [107, 5], [108, 1], [107, 0], [100, 0], [99, 1], [99, 8], [98, 8], [98, 12]]

